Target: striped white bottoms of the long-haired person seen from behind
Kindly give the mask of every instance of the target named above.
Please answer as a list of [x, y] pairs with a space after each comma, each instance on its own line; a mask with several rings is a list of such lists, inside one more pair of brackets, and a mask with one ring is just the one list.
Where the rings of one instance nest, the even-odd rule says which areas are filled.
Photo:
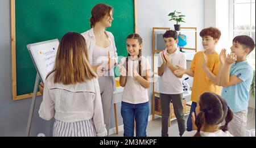
[[53, 125], [53, 137], [96, 137], [93, 120], [63, 122], [56, 120]]

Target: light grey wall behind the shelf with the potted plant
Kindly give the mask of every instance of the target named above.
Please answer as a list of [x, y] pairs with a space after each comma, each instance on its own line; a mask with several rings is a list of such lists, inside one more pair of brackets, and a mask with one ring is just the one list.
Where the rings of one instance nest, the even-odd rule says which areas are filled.
[[[152, 55], [152, 27], [171, 27], [174, 28], [174, 22], [169, 22], [168, 14], [174, 10], [182, 12], [185, 22], [181, 23], [181, 27], [197, 27], [197, 31], [204, 28], [204, 0], [139, 0], [137, 1], [138, 11], [138, 33], [143, 39], [143, 56]], [[188, 9], [189, 6], [189, 9]], [[203, 49], [201, 45], [201, 37], [197, 33], [197, 49]], [[151, 59], [151, 58], [150, 58]], [[150, 60], [149, 59], [149, 60]], [[152, 66], [152, 60], [150, 61]], [[152, 84], [148, 88], [148, 97], [150, 98], [150, 114], [151, 114], [151, 98]]]

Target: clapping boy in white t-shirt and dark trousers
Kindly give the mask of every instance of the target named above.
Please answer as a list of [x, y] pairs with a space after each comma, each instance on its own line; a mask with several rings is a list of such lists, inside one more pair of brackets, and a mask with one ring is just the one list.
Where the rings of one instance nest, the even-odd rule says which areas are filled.
[[170, 116], [170, 103], [174, 105], [174, 113], [179, 126], [179, 134], [185, 131], [185, 120], [182, 104], [182, 75], [176, 76], [174, 71], [176, 65], [186, 68], [185, 54], [177, 49], [177, 32], [168, 30], [163, 35], [166, 49], [159, 53], [158, 75], [160, 76], [159, 92], [162, 108], [162, 136], [168, 137], [168, 119]]

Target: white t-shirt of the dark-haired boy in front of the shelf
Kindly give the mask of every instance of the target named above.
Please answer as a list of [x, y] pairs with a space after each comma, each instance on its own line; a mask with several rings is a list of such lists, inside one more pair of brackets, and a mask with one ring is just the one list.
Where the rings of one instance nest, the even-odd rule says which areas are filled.
[[[186, 57], [185, 54], [178, 49], [172, 54], [167, 53], [167, 49], [163, 51], [171, 59], [172, 66], [179, 65], [186, 69]], [[162, 53], [158, 55], [158, 67], [163, 64]], [[168, 66], [164, 69], [163, 75], [159, 79], [159, 92], [162, 94], [181, 94], [183, 93], [182, 78], [177, 78]]]

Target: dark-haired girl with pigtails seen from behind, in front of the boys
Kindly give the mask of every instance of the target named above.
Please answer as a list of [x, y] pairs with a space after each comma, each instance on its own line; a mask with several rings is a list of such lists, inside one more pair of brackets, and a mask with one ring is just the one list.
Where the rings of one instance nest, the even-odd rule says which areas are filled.
[[[213, 92], [205, 92], [197, 101], [196, 118], [192, 113], [193, 130], [185, 132], [183, 137], [233, 137], [228, 132], [228, 123], [233, 119], [233, 112], [225, 99]], [[225, 120], [225, 125], [220, 126]]]

